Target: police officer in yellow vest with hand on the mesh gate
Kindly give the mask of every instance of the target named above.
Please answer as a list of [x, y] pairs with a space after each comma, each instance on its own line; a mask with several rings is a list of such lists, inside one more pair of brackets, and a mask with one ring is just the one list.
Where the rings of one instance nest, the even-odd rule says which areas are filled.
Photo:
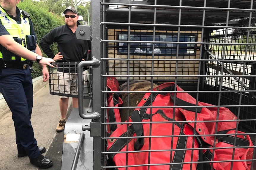
[[49, 79], [46, 65], [54, 67], [51, 64], [54, 61], [42, 57], [29, 14], [18, 9], [19, 2], [0, 0], [0, 92], [12, 111], [18, 157], [29, 156], [35, 166], [48, 168], [52, 161], [41, 154], [46, 149], [37, 146], [30, 122], [33, 84], [29, 67], [37, 61], [46, 82]]

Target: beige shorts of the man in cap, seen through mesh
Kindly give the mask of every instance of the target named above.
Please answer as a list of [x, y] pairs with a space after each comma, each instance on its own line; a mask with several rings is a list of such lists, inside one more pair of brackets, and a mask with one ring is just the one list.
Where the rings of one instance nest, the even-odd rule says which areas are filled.
[[[77, 78], [77, 73], [58, 72], [59, 93], [78, 95]], [[89, 79], [89, 73], [87, 70], [85, 70], [83, 72], [83, 85], [85, 85], [86, 82], [90, 81]], [[60, 96], [60, 98], [68, 98], [68, 96]]]

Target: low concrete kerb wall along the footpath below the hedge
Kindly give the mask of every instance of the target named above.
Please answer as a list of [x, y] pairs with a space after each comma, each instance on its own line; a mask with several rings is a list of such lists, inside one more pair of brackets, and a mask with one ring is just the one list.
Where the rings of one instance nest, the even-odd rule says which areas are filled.
[[[43, 82], [42, 78], [43, 78], [43, 76], [39, 76], [32, 80], [34, 95], [35, 95], [35, 93], [37, 93], [38, 90], [40, 90], [43, 86], [45, 86], [46, 83], [49, 83], [49, 82]], [[5, 102], [3, 95], [0, 93], [0, 120], [2, 118], [4, 118], [6, 116], [6, 114], [9, 113], [9, 111], [10, 111], [10, 109], [9, 109], [7, 103]]]

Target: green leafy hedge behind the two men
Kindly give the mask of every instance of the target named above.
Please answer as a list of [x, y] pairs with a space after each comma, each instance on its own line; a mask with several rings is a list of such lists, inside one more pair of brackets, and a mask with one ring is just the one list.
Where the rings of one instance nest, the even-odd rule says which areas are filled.
[[[42, 2], [24, 0], [18, 4], [18, 8], [29, 13], [37, 36], [37, 44], [43, 36], [50, 32], [50, 30], [65, 24], [63, 16], [58, 16], [49, 12], [48, 9], [44, 7]], [[56, 43], [51, 45], [51, 48], [53, 49], [54, 53], [58, 52]], [[44, 53], [43, 56], [47, 57]], [[33, 68], [34, 73], [32, 73], [32, 78], [42, 75], [42, 68], [38, 63], [34, 62]]]

